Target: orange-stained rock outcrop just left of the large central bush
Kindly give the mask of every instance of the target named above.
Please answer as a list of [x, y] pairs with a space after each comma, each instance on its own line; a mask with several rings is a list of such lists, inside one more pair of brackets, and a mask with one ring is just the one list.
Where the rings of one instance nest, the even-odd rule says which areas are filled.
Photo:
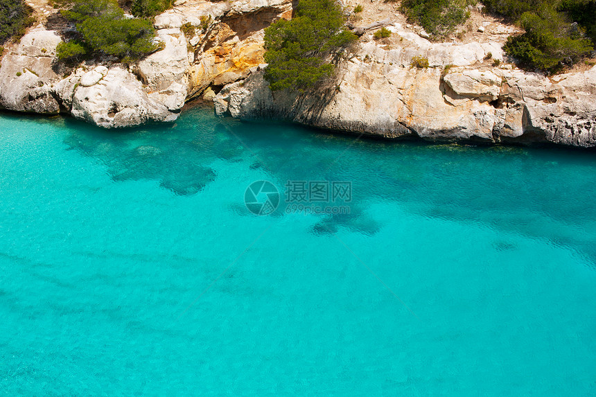
[[[172, 91], [171, 82], [177, 82], [186, 86], [186, 99], [194, 98], [211, 85], [246, 77], [263, 62], [263, 29], [291, 16], [291, 0], [177, 2], [155, 18], [165, 48], [139, 63], [139, 75], [157, 90]], [[188, 24], [195, 30], [192, 37], [180, 30]]]

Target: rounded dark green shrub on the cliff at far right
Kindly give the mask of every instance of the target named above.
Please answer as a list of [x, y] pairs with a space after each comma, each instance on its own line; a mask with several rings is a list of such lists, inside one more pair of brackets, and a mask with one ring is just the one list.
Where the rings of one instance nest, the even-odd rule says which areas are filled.
[[582, 37], [581, 30], [552, 6], [542, 6], [537, 13], [524, 12], [520, 23], [525, 33], [509, 37], [503, 48], [526, 69], [556, 73], [593, 49], [590, 39]]

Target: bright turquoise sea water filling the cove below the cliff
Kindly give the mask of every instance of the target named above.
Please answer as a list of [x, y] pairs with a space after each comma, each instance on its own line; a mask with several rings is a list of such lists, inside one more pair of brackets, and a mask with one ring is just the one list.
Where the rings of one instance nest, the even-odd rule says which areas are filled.
[[[596, 395], [595, 152], [193, 109], [0, 115], [0, 165], [0, 394]], [[351, 182], [350, 213], [285, 213], [288, 180]]]

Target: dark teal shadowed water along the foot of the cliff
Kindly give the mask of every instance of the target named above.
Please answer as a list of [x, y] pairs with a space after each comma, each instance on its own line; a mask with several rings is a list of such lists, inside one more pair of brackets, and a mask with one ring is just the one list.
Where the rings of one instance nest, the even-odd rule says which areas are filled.
[[[387, 218], [372, 213], [370, 204], [394, 202], [428, 218], [477, 222], [573, 247], [596, 261], [594, 152], [356, 140], [295, 125], [240, 123], [200, 108], [173, 125], [122, 131], [65, 123], [71, 130], [65, 143], [102, 161], [114, 180], [157, 180], [177, 195], [196, 194], [212, 182], [216, 159], [265, 171], [282, 195], [288, 180], [351, 182], [350, 213], [320, 215], [316, 234], [345, 227], [374, 235]], [[250, 215], [242, 203], [231, 210]], [[283, 216], [282, 209], [275, 215]], [[510, 242], [495, 247], [515, 249]]]

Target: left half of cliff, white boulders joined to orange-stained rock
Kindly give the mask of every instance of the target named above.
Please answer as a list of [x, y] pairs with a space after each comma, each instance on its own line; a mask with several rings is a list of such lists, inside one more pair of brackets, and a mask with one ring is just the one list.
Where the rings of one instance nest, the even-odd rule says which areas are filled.
[[[3, 55], [0, 108], [68, 112], [107, 128], [173, 121], [186, 100], [262, 63], [263, 28], [291, 11], [291, 0], [178, 1], [155, 18], [160, 51], [131, 67], [82, 64], [66, 76], [56, 59], [60, 33], [40, 25]], [[182, 33], [185, 24], [193, 37]]]

